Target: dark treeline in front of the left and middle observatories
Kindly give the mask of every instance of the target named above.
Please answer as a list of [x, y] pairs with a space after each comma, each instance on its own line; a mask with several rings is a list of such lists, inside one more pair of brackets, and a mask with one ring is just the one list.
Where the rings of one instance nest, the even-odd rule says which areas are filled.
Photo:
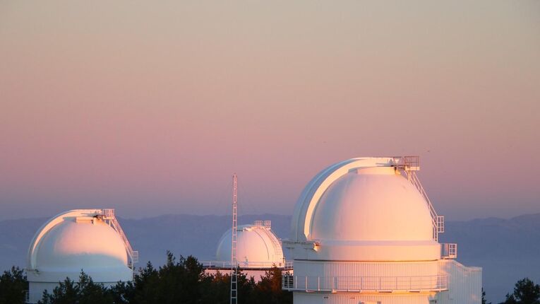
[[[228, 271], [227, 271], [228, 272]], [[281, 289], [282, 271], [277, 267], [265, 272], [260, 281], [238, 274], [238, 303], [292, 303], [292, 293]], [[95, 283], [81, 272], [78, 281], [66, 278], [53, 291], [43, 294], [42, 304], [169, 304], [229, 303], [229, 274], [206, 274], [195, 257], [176, 259], [167, 252], [167, 263], [159, 268], [150, 262], [135, 274], [131, 282], [119, 282], [109, 288]], [[0, 279], [0, 304], [25, 303], [28, 281], [23, 271], [13, 267]]]

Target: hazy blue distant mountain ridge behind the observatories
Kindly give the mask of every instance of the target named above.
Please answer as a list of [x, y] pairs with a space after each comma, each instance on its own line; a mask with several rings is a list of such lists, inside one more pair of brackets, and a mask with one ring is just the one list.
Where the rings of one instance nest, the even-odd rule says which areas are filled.
[[[0, 221], [0, 271], [12, 265], [25, 267], [30, 240], [47, 219]], [[278, 237], [289, 237], [291, 216], [239, 216], [240, 224], [256, 220], [272, 221]], [[140, 252], [140, 267], [147, 261], [163, 264], [167, 250], [176, 256], [193, 255], [200, 261], [214, 259], [218, 240], [231, 226], [230, 216], [211, 215], [167, 214], [119, 221], [133, 248]], [[440, 242], [457, 243], [459, 262], [484, 268], [484, 288], [493, 303], [503, 300], [513, 284], [525, 276], [540, 283], [540, 214], [448, 221]]]

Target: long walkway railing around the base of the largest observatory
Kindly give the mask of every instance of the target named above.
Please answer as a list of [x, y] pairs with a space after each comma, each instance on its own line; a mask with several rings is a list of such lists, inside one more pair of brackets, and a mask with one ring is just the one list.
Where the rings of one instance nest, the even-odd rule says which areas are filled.
[[420, 292], [445, 291], [447, 277], [436, 276], [282, 276], [287, 291], [322, 292]]

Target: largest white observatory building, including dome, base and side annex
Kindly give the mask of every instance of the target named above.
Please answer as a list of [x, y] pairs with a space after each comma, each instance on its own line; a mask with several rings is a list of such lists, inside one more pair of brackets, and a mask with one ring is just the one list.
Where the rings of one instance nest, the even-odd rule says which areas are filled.
[[308, 183], [284, 242], [295, 304], [481, 303], [481, 268], [440, 244], [438, 216], [415, 171], [419, 158], [352, 158]]

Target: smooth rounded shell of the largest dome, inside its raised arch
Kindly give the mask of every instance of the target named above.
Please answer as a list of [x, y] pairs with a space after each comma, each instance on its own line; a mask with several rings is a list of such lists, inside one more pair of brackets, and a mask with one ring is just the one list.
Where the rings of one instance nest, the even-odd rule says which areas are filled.
[[350, 170], [325, 190], [312, 240], [431, 240], [433, 223], [418, 190], [392, 167]]

